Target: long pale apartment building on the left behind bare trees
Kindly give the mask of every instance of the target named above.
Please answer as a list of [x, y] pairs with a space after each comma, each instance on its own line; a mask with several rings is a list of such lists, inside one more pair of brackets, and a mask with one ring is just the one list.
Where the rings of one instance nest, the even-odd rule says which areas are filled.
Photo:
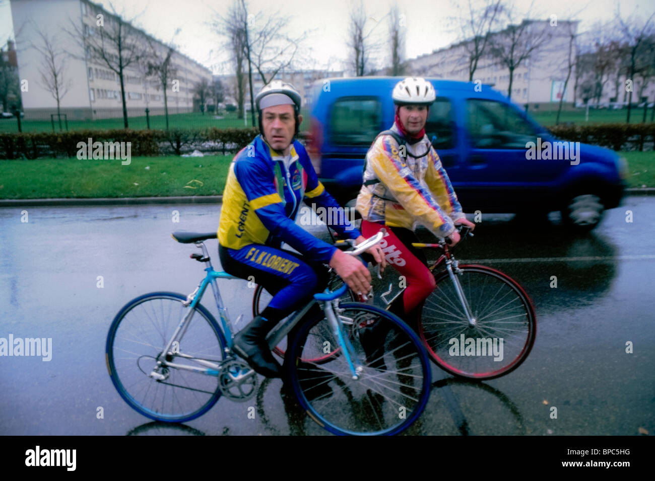
[[[102, 5], [86, 0], [12, 0], [12, 20], [16, 32], [18, 73], [21, 80], [28, 80], [28, 88], [22, 92], [25, 118], [49, 118], [56, 113], [56, 100], [41, 80], [43, 58], [31, 45], [41, 41], [38, 31], [50, 35], [56, 47], [67, 52], [64, 80], [69, 84], [67, 93], [60, 99], [61, 111], [69, 119], [84, 120], [122, 116], [121, 83], [119, 75], [102, 60], [94, 58], [88, 47], [86, 52], [68, 32], [81, 31], [92, 38], [100, 35], [100, 29], [116, 26], [113, 14]], [[102, 22], [99, 22], [102, 19]], [[102, 23], [99, 25], [99, 23]], [[140, 48], [153, 45], [160, 58], [168, 47], [144, 31], [124, 24], [126, 35], [134, 39]], [[109, 49], [109, 56], [117, 52]], [[201, 79], [212, 80], [209, 69], [178, 51], [171, 56], [174, 75], [168, 80], [166, 96], [168, 113], [198, 111], [198, 99], [193, 90]], [[124, 71], [125, 100], [128, 116], [164, 113], [164, 95], [159, 79], [147, 77], [143, 63], [134, 62]], [[174, 83], [174, 80], [177, 82]]]

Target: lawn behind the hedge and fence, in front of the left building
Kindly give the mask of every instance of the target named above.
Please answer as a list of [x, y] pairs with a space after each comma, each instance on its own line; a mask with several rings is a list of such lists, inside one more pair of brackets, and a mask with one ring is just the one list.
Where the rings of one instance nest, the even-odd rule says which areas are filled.
[[[200, 129], [206, 127], [216, 128], [243, 128], [251, 127], [252, 122], [250, 112], [246, 112], [246, 120], [237, 118], [236, 112], [225, 112], [219, 115], [222, 118], [215, 118], [215, 114], [205, 112], [204, 115], [200, 112], [192, 112], [185, 114], [169, 114], [168, 115], [168, 128], [183, 128], [183, 129]], [[307, 112], [303, 112], [307, 115]], [[309, 117], [306, 117], [309, 118]], [[309, 125], [309, 124], [307, 124]], [[145, 114], [139, 117], [128, 117], [128, 126], [132, 130], [145, 130], [147, 122]], [[257, 126], [257, 116], [255, 115], [255, 126]], [[52, 132], [52, 124], [50, 118], [46, 120], [25, 120], [21, 119], [21, 127], [23, 132]], [[55, 120], [54, 128], [59, 132], [59, 123]], [[62, 128], [65, 130], [64, 119], [62, 117]], [[69, 120], [68, 130], [85, 130], [85, 129], [122, 129], [123, 119], [117, 118], [101, 118], [98, 120]], [[161, 129], [166, 128], [166, 117], [163, 115], [150, 116], [150, 128]], [[0, 119], [0, 132], [18, 132], [18, 122], [16, 118]]]

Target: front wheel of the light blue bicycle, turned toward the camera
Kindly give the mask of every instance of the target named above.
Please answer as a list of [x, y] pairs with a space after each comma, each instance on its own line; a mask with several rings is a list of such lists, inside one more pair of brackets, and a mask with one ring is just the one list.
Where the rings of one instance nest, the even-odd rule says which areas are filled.
[[[291, 340], [286, 366], [293, 392], [314, 421], [338, 435], [394, 435], [417, 419], [430, 397], [431, 371], [418, 336], [403, 321], [368, 304], [341, 304], [345, 334], [362, 363], [357, 380], [345, 355], [322, 364], [303, 361], [309, 334], [325, 317], [307, 322]], [[322, 332], [329, 332], [323, 329]], [[333, 334], [324, 338], [338, 346]]]

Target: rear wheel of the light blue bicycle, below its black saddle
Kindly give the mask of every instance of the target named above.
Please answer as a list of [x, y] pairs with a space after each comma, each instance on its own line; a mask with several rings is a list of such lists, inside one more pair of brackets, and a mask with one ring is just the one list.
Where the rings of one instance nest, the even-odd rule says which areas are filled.
[[[144, 294], [128, 302], [109, 327], [105, 359], [109, 376], [124, 399], [151, 419], [183, 422], [207, 412], [219, 390], [218, 370], [210, 374], [174, 367], [160, 368], [164, 380], [149, 374], [162, 359], [162, 351], [179, 322], [189, 312], [186, 296], [176, 293]], [[179, 336], [178, 336], [179, 337]], [[218, 365], [223, 360], [225, 338], [210, 312], [198, 304], [183, 337], [165, 359], [179, 365], [207, 368], [195, 361]], [[191, 357], [189, 357], [191, 356]]]

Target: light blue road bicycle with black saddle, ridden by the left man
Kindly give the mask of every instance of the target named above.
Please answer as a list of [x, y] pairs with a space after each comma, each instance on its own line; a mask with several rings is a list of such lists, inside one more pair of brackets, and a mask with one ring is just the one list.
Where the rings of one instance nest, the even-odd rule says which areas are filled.
[[[216, 279], [238, 277], [212, 267], [203, 241], [215, 239], [216, 233], [172, 236], [202, 249], [202, 255], [191, 258], [205, 263], [206, 276], [188, 296], [149, 293], [125, 304], [109, 327], [105, 359], [128, 405], [148, 418], [179, 423], [202, 416], [221, 395], [240, 402], [252, 398], [257, 374], [232, 350], [233, 325]], [[358, 255], [382, 236], [376, 234], [348, 254]], [[208, 285], [220, 323], [200, 304]], [[398, 317], [368, 304], [338, 302], [346, 289], [344, 284], [315, 294], [271, 330], [267, 342], [272, 349], [293, 332], [283, 365], [285, 382], [324, 429], [339, 435], [400, 433], [421, 415], [430, 396], [428, 357], [417, 334]], [[316, 312], [317, 303], [323, 314], [305, 317]], [[362, 341], [371, 322], [386, 332], [377, 336], [375, 347]], [[320, 365], [305, 361], [316, 349], [328, 355]]]

